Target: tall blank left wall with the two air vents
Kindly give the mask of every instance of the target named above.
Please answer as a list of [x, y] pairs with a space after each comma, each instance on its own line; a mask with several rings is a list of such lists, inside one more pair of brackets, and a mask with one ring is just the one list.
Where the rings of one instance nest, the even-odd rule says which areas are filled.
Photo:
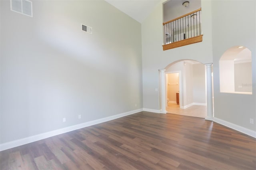
[[0, 1], [1, 144], [143, 107], [140, 23], [105, 1], [32, 2], [33, 18]]

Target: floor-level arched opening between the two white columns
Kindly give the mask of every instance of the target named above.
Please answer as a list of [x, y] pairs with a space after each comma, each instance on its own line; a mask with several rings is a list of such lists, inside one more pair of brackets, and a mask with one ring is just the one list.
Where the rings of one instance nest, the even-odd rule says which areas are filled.
[[165, 68], [166, 112], [206, 118], [205, 65], [180, 60]]

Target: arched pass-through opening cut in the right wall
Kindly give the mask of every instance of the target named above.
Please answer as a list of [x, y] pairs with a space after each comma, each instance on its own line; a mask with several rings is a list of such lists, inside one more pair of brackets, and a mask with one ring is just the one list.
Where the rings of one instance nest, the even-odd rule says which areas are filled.
[[242, 46], [227, 49], [220, 57], [220, 92], [252, 94], [252, 53]]

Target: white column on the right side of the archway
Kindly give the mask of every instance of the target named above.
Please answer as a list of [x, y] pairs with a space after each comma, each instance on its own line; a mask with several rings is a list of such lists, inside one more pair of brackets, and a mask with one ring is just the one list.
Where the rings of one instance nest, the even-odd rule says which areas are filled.
[[205, 120], [213, 121], [213, 106], [212, 106], [212, 63], [206, 64], [206, 105], [207, 116]]

